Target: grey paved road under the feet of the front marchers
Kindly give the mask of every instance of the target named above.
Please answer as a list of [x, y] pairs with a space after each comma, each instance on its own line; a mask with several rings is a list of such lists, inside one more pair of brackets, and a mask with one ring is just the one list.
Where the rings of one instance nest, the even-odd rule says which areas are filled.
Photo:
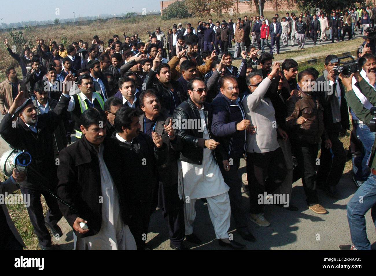
[[[1, 116], [2, 117], [2, 116]], [[0, 138], [0, 153], [2, 154], [8, 145]], [[245, 173], [245, 161], [241, 160], [239, 174]], [[284, 208], [273, 205], [265, 207], [265, 217], [270, 221], [269, 227], [260, 227], [249, 221], [249, 227], [255, 235], [257, 242], [249, 243], [243, 241], [235, 231], [232, 221], [230, 232], [234, 239], [244, 242], [247, 249], [262, 250], [337, 250], [340, 244], [350, 244], [349, 226], [346, 217], [346, 204], [355, 193], [356, 187], [353, 184], [352, 173], [344, 171], [343, 177], [338, 184], [341, 191], [341, 199], [334, 200], [319, 190], [318, 195], [321, 203], [329, 211], [326, 215], [318, 215], [308, 210], [305, 205], [305, 194], [301, 181], [293, 184], [292, 204], [299, 208], [297, 212], [291, 212]], [[243, 193], [243, 204], [249, 210], [249, 198]], [[194, 250], [215, 250], [222, 249], [215, 241], [214, 229], [211, 224], [206, 203], [197, 200], [197, 217], [194, 223], [194, 232], [202, 239], [203, 244], [194, 247], [194, 244], [186, 242], [187, 246]], [[366, 214], [367, 234], [369, 240], [376, 241], [375, 226], [372, 223], [370, 212]], [[67, 221], [63, 218], [59, 225], [64, 236], [59, 241], [54, 241], [61, 250], [73, 249], [73, 232]], [[319, 240], [317, 240], [319, 239]], [[162, 218], [161, 210], [156, 210], [150, 221], [147, 245], [155, 250], [168, 250], [168, 229]]]

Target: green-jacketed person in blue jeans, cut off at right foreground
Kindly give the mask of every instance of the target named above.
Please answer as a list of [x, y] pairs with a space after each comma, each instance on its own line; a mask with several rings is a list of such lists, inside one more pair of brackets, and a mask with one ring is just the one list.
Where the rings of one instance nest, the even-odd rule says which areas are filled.
[[[375, 82], [375, 76], [370, 79], [371, 82]], [[371, 76], [369, 74], [369, 76]], [[359, 98], [356, 96], [355, 91], [352, 89], [352, 78], [355, 77], [362, 91], [362, 94], [367, 97], [370, 103], [376, 103], [376, 94], [373, 87], [371, 87], [361, 73], [358, 71], [355, 74], [351, 74], [350, 77], [344, 77], [340, 74], [342, 83], [347, 88], [345, 98], [348, 105], [352, 108], [359, 120], [362, 120], [365, 124], [369, 124], [373, 118], [370, 110], [365, 107]], [[351, 250], [371, 250], [370, 241], [367, 238], [367, 232], [365, 230], [365, 213], [371, 209], [371, 217], [373, 221], [376, 221], [376, 145], [373, 143], [368, 166], [371, 168], [371, 174], [361, 187], [356, 191], [354, 196], [347, 203], [347, 220], [349, 221], [350, 235], [352, 246]], [[362, 199], [362, 203], [359, 204], [359, 199]]]

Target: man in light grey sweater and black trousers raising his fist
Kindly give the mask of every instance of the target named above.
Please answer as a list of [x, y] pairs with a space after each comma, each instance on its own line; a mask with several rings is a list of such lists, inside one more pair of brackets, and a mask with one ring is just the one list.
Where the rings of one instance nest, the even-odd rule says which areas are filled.
[[[287, 133], [276, 124], [275, 110], [270, 100], [277, 90], [273, 82], [279, 69], [276, 62], [265, 79], [257, 73], [250, 73], [246, 81], [251, 93], [241, 102], [246, 119], [257, 127], [256, 135], [248, 135], [247, 138], [247, 179], [249, 183], [253, 183], [249, 187], [250, 219], [262, 227], [267, 227], [270, 223], [264, 217], [259, 195], [264, 195], [265, 192], [273, 194], [286, 176], [284, 155], [277, 136], [287, 140]], [[267, 197], [264, 201], [266, 200]]]

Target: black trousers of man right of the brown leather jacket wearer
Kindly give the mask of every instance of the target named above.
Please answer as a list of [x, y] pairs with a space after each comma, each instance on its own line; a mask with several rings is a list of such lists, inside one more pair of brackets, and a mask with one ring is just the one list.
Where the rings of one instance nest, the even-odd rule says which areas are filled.
[[317, 183], [319, 185], [335, 186], [340, 182], [346, 164], [346, 152], [338, 138], [339, 133], [327, 133], [332, 142], [332, 148], [326, 149], [321, 143], [320, 165], [317, 169]]

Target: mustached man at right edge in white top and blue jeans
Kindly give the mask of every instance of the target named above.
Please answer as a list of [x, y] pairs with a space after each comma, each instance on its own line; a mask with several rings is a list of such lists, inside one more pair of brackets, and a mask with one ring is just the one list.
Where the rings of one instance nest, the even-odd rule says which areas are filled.
[[[359, 58], [359, 66], [362, 67], [362, 70], [359, 74], [367, 84], [367, 88], [371, 88], [374, 93], [376, 89], [376, 58], [372, 54], [366, 53], [362, 55], [361, 58]], [[356, 95], [357, 99], [363, 104], [365, 109], [370, 110], [371, 107], [376, 106], [376, 100], [371, 100], [373, 99], [373, 95], [366, 95], [365, 93], [368, 93], [368, 89], [362, 89], [360, 83], [355, 79], [355, 77], [352, 78], [351, 86], [353, 93]], [[351, 109], [351, 116], [355, 123], [353, 127], [356, 128], [356, 136], [362, 142], [364, 148], [364, 156], [362, 158], [361, 168], [358, 169], [355, 176], [353, 177], [355, 184], [359, 187], [368, 178], [368, 175], [370, 173], [369, 168], [367, 166], [367, 160], [371, 153], [371, 147], [373, 145], [375, 135], [370, 131], [370, 128], [368, 127], [369, 120], [364, 121], [359, 119], [357, 112], [353, 109]]]

